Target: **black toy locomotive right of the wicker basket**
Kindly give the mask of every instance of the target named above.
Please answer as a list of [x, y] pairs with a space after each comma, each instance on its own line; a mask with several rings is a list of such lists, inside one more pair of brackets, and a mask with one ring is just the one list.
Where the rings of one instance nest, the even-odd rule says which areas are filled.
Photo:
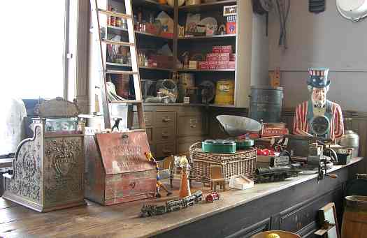
[[256, 177], [254, 181], [256, 183], [266, 183], [271, 181], [283, 181], [289, 177], [297, 177], [300, 170], [296, 169], [292, 165], [257, 168]]

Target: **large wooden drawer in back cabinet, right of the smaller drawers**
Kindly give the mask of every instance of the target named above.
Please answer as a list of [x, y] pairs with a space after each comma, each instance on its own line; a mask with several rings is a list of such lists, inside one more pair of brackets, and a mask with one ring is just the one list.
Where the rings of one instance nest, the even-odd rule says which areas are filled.
[[201, 114], [195, 116], [178, 117], [178, 135], [203, 135], [203, 121]]

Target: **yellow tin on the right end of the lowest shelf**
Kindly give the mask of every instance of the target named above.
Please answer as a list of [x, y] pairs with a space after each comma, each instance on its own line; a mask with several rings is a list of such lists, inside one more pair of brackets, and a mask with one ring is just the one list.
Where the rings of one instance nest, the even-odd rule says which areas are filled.
[[234, 81], [217, 81], [217, 91], [215, 92], [215, 104], [234, 105]]

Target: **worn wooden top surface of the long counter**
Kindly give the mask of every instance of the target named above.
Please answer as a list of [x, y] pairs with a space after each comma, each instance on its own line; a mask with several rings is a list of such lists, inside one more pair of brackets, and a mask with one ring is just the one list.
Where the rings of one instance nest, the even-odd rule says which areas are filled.
[[[336, 165], [328, 172], [340, 170], [361, 160], [362, 158], [353, 158], [348, 165]], [[87, 201], [85, 207], [45, 214], [0, 198], [0, 237], [152, 237], [316, 177], [317, 174], [300, 175], [285, 181], [255, 184], [254, 188], [245, 191], [229, 190], [220, 193], [220, 200], [214, 203], [202, 202], [187, 209], [147, 218], [138, 217], [143, 203], [164, 204], [167, 200], [177, 198], [178, 192], [157, 200], [129, 202], [109, 207]], [[178, 190], [178, 183], [178, 180], [174, 181], [175, 190]], [[198, 189], [203, 191], [204, 196], [209, 191], [208, 187], [203, 188], [202, 184], [194, 182], [192, 191]]]

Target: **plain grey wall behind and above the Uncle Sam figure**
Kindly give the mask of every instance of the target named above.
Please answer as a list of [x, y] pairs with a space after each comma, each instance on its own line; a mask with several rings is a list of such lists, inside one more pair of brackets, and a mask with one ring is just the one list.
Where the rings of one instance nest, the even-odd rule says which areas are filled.
[[307, 0], [291, 0], [287, 23], [288, 49], [278, 47], [279, 17], [269, 16], [269, 70], [280, 67], [285, 107], [307, 100], [308, 67], [329, 67], [328, 97], [344, 110], [367, 112], [367, 20], [353, 23], [341, 17], [336, 1], [326, 11], [308, 12]]

